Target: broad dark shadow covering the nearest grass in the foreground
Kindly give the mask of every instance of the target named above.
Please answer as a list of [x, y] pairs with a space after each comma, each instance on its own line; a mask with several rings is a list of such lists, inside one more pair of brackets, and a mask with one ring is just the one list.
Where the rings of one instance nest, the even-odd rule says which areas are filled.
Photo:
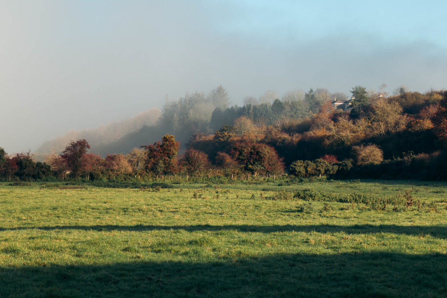
[[[445, 297], [446, 255], [282, 254], [0, 270], [1, 297]], [[201, 259], [202, 260], [202, 259]]]

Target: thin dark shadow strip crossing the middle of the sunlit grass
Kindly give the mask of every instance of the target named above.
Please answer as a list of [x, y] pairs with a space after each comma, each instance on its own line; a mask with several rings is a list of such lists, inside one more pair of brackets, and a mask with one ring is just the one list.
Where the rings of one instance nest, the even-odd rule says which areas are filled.
[[0, 231], [14, 230], [85, 230], [85, 231], [157, 231], [157, 230], [184, 230], [184, 231], [240, 231], [273, 233], [284, 231], [336, 233], [346, 234], [371, 234], [371, 233], [393, 233], [404, 235], [432, 235], [433, 237], [447, 239], [447, 226], [398, 226], [398, 225], [193, 225], [193, 226], [156, 226], [156, 225], [136, 225], [136, 226], [116, 226], [116, 225], [94, 225], [94, 226], [46, 226], [46, 227], [12, 227], [1, 228]]

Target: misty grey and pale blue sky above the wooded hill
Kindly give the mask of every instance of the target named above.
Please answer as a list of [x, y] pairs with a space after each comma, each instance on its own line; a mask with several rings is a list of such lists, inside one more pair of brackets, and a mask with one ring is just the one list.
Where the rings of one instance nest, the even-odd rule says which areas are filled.
[[447, 88], [447, 1], [0, 0], [0, 147], [223, 85], [266, 90]]

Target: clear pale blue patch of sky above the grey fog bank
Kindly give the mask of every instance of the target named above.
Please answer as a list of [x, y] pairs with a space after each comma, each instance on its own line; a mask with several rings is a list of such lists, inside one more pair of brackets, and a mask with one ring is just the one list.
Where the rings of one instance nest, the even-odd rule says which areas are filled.
[[[214, 5], [216, 1], [208, 1]], [[446, 46], [446, 1], [217, 1], [231, 6], [223, 32], [315, 39], [375, 35], [385, 42], [426, 40]], [[232, 3], [229, 5], [228, 3]], [[234, 5], [234, 6], [233, 6]], [[236, 10], [233, 8], [236, 7]], [[280, 32], [278, 32], [280, 31]]]

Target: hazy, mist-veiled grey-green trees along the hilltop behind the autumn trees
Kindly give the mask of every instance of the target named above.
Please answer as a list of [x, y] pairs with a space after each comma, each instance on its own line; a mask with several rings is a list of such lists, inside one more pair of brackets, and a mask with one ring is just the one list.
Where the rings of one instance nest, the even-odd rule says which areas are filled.
[[311, 118], [320, 110], [322, 103], [334, 97], [347, 99], [346, 94], [330, 93], [324, 88], [311, 89], [309, 92], [292, 90], [282, 97], [267, 91], [259, 98], [245, 97], [243, 106], [230, 106], [228, 92], [222, 86], [208, 93], [186, 93], [177, 101], [167, 97], [156, 124], [144, 126], [111, 143], [100, 146], [92, 144], [92, 150], [102, 156], [110, 152], [129, 152], [139, 144], [153, 143], [164, 134], [172, 134], [181, 143], [183, 152], [192, 135], [212, 134], [224, 124], [232, 125], [240, 116], [256, 119], [257, 125], [266, 126], [277, 124], [281, 118]]

